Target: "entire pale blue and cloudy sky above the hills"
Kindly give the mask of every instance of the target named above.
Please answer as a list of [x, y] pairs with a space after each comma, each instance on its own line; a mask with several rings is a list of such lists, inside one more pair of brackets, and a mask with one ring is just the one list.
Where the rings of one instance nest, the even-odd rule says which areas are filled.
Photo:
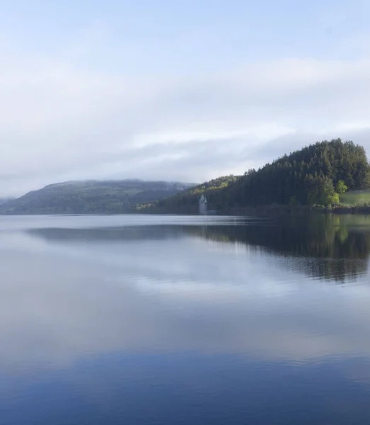
[[370, 152], [370, 0], [0, 0], [0, 197]]

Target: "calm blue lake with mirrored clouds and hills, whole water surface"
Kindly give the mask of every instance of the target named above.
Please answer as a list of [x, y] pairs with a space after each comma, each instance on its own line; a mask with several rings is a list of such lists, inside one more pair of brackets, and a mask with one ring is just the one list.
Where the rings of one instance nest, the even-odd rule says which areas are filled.
[[0, 217], [0, 424], [370, 424], [370, 217]]

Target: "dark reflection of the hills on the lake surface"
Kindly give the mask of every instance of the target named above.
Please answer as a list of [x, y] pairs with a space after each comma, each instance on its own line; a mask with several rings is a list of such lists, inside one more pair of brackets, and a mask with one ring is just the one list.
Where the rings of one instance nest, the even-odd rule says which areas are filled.
[[[366, 224], [369, 227], [366, 227]], [[367, 217], [318, 215], [310, 220], [238, 220], [230, 225], [144, 225], [96, 229], [32, 229], [54, 242], [132, 242], [197, 237], [234, 244], [249, 254], [282, 256], [281, 263], [308, 276], [344, 281], [366, 273], [370, 251]]]

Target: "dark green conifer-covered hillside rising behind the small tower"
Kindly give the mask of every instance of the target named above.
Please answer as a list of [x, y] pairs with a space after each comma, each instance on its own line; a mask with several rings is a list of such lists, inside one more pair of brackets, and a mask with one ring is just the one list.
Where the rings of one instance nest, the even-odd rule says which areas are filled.
[[337, 139], [286, 154], [240, 177], [204, 183], [161, 200], [151, 210], [195, 212], [200, 193], [207, 196], [210, 209], [219, 211], [250, 205], [335, 205], [345, 191], [368, 186], [369, 163], [364, 148]]

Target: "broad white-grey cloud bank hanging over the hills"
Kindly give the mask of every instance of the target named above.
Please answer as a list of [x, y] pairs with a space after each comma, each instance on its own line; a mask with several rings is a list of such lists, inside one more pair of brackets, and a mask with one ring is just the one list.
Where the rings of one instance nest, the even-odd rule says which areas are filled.
[[0, 195], [65, 179], [203, 181], [323, 138], [370, 147], [370, 60], [291, 58], [157, 81], [0, 59]]

